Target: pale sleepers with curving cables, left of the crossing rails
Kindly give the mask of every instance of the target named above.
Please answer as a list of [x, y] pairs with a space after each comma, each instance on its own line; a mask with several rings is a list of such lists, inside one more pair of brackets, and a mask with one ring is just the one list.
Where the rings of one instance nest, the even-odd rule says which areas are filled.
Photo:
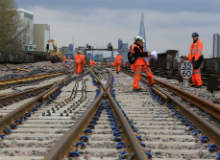
[[[69, 78], [66, 82], [71, 79], [73, 80]], [[77, 81], [76, 88], [74, 83], [64, 86], [56, 92], [56, 99], [49, 98], [38, 111], [31, 112], [30, 117], [26, 116], [28, 120], [23, 120], [23, 124], [18, 125], [17, 129], [10, 130], [9, 135], [4, 133], [0, 159], [43, 159], [50, 146], [74, 125], [75, 119], [80, 117], [85, 106], [93, 99], [95, 92], [87, 93], [86, 83], [82, 78]], [[94, 87], [89, 85], [89, 89]], [[71, 97], [71, 93], [76, 95], [75, 98]], [[48, 96], [47, 94], [44, 96]]]

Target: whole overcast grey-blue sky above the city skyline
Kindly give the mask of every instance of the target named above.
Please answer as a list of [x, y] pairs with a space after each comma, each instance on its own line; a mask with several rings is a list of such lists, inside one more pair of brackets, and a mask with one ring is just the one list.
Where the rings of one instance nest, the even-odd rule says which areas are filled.
[[186, 55], [192, 32], [212, 56], [213, 33], [220, 32], [220, 0], [16, 0], [34, 12], [35, 23], [49, 24], [58, 47], [86, 43], [105, 47], [118, 38], [131, 44], [144, 13], [148, 50], [179, 50]]

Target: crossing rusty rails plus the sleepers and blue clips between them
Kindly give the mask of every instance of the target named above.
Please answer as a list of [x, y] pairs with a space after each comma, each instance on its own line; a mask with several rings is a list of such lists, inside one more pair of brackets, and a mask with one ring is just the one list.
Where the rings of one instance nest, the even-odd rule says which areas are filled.
[[[80, 157], [81, 159], [99, 160], [103, 158], [115, 159], [119, 156], [121, 158], [148, 159], [139, 140], [136, 139], [126, 118], [111, 95], [112, 77], [108, 78], [107, 84], [104, 86], [94, 73], [92, 75], [95, 77], [96, 83], [101, 85], [98, 97], [82, 115], [77, 125], [51, 149], [45, 159], [63, 159], [63, 157], [64, 159], [71, 159], [68, 157], [75, 159]], [[107, 117], [109, 120], [108, 127], [104, 126], [101, 130], [97, 129], [96, 126], [101, 127], [103, 122], [106, 123]], [[93, 137], [99, 135], [100, 138], [104, 136], [104, 140], [97, 141]]]

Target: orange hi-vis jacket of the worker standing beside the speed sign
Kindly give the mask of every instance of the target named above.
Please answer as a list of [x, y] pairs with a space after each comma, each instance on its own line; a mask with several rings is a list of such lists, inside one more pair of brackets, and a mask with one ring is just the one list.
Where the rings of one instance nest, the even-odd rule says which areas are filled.
[[188, 54], [188, 60], [192, 62], [192, 58], [195, 57], [195, 61], [197, 61], [199, 57], [202, 55], [202, 51], [203, 43], [200, 41], [200, 39], [198, 39], [196, 43], [192, 42], [190, 46], [190, 52]]

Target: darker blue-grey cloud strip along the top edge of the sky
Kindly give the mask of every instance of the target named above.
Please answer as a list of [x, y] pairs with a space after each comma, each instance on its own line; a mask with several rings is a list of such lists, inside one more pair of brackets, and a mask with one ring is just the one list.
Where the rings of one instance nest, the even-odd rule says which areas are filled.
[[59, 10], [90, 10], [96, 8], [156, 10], [162, 12], [220, 13], [219, 0], [17, 0], [19, 6], [40, 5]]

